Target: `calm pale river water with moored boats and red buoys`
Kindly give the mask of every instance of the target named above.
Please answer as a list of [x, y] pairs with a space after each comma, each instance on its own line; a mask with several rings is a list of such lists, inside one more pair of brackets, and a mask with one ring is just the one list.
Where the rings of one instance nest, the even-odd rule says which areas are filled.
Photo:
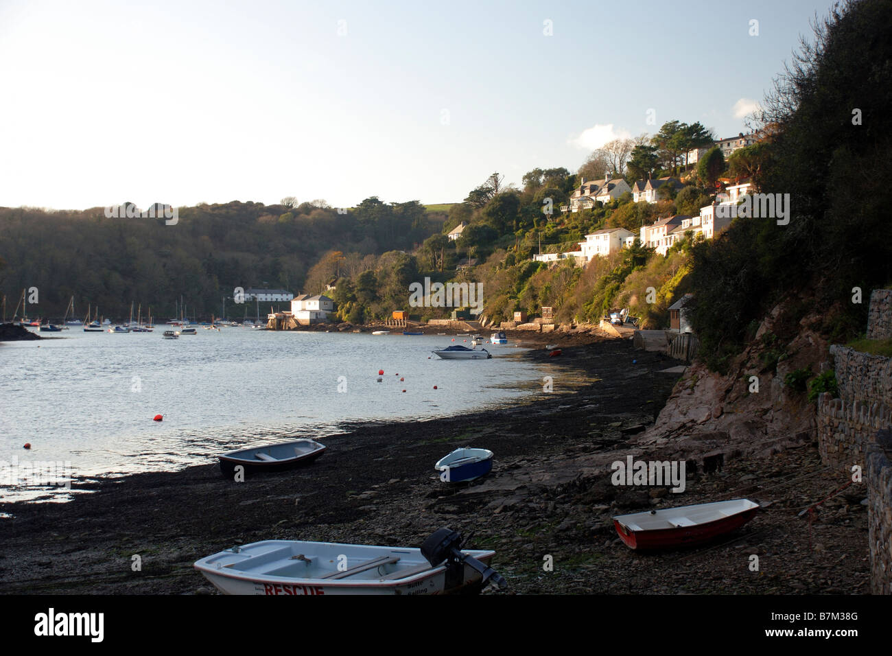
[[[0, 466], [68, 461], [76, 478], [178, 469], [240, 446], [326, 436], [343, 420], [505, 403], [541, 391], [544, 371], [513, 346], [484, 345], [493, 353], [486, 361], [428, 359], [451, 336], [199, 327], [196, 336], [167, 340], [163, 329], [72, 327], [62, 338], [0, 343]], [[164, 420], [153, 421], [156, 414]], [[3, 477], [6, 501], [46, 494]], [[60, 492], [50, 500], [67, 498]]]

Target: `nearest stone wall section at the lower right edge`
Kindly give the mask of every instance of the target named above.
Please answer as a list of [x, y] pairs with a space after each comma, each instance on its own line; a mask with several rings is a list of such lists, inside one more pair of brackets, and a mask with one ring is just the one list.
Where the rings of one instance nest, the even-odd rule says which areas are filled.
[[867, 446], [871, 593], [892, 594], [892, 431]]

